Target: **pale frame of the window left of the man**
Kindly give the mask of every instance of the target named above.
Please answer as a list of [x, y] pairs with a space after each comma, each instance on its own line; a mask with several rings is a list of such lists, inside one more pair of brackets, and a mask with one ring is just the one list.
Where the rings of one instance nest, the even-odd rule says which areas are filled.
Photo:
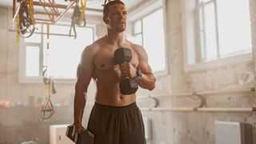
[[[66, 23], [60, 23], [56, 24], [58, 26], [69, 26]], [[42, 81], [42, 70], [44, 66], [44, 44], [43, 44], [43, 37], [46, 35], [43, 32], [43, 25], [41, 25], [42, 31], [35, 33], [35, 34], [40, 34], [41, 35], [41, 42], [36, 43], [36, 42], [25, 42], [25, 38], [20, 38], [20, 44], [19, 44], [19, 69], [18, 69], [18, 82], [19, 83], [43, 83]], [[87, 24], [85, 26], [86, 28], [90, 28], [93, 30], [93, 41], [95, 41], [96, 38], [96, 25], [93, 24]], [[66, 35], [59, 35], [59, 34], [50, 34], [50, 35], [58, 35], [61, 37], [67, 37]], [[26, 76], [26, 46], [38, 46], [39, 47], [39, 76], [38, 77], [27, 77]], [[76, 81], [76, 78], [54, 78], [55, 83], [74, 83]]]

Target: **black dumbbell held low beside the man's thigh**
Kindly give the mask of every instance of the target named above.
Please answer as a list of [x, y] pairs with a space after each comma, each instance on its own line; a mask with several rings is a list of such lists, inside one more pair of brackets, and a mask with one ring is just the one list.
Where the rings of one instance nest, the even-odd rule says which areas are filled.
[[82, 143], [93, 144], [94, 143], [94, 134], [92, 134], [89, 130], [81, 130], [74, 135], [74, 125], [67, 126], [66, 136], [76, 144], [82, 144]]

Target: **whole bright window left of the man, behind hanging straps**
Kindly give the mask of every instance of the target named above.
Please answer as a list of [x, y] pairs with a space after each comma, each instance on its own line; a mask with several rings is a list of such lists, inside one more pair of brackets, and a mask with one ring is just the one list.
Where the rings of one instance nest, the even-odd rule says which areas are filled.
[[[94, 41], [93, 27], [76, 27], [78, 37], [69, 37], [70, 26], [50, 26], [47, 39], [46, 25], [37, 25], [38, 30], [21, 44], [21, 82], [36, 82], [47, 74], [54, 79], [74, 79], [82, 50]], [[48, 44], [49, 42], [49, 44]]]

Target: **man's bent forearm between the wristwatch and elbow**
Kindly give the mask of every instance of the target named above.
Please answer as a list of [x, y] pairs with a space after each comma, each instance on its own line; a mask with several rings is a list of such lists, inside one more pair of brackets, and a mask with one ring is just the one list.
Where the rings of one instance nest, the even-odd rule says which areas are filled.
[[142, 78], [138, 81], [138, 86], [143, 89], [153, 90], [155, 87], [154, 74], [143, 74]]

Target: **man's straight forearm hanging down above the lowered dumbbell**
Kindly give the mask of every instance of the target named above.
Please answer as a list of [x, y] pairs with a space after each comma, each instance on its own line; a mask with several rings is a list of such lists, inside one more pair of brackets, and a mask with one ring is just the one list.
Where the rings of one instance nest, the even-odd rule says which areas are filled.
[[85, 93], [77, 93], [74, 96], [74, 125], [82, 126], [82, 115], [86, 106]]

